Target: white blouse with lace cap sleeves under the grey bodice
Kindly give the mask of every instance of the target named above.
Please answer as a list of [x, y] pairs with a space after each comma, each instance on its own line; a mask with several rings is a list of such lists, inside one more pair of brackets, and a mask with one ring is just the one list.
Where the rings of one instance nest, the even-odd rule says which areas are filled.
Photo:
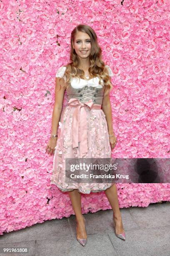
[[[108, 69], [109, 75], [110, 77], [113, 76], [112, 70], [110, 69], [110, 67], [108, 65], [105, 65]], [[55, 77], [64, 77], [64, 73], [65, 73], [65, 69], [66, 67], [62, 66], [57, 70], [57, 73], [55, 75]], [[92, 79], [89, 80], [85, 80], [85, 79], [81, 79], [79, 80], [78, 77], [71, 77], [71, 86], [72, 88], [75, 89], [80, 89], [82, 87], [88, 86], [88, 87], [96, 87], [96, 88], [102, 88], [103, 87], [103, 80], [101, 79], [101, 83], [99, 84], [99, 78], [98, 77], [93, 77]]]

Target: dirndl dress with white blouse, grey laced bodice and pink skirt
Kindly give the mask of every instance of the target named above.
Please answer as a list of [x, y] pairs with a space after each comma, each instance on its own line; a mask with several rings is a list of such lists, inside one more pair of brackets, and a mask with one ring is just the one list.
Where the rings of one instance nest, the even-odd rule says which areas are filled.
[[[112, 70], [105, 65], [108, 73]], [[55, 77], [64, 77], [66, 67], [57, 70]], [[107, 122], [102, 107], [104, 84], [99, 78], [90, 80], [72, 77], [66, 90], [67, 105], [62, 109], [58, 138], [53, 158], [50, 184], [62, 192], [78, 189], [83, 194], [100, 192], [113, 183], [66, 183], [65, 159], [67, 158], [111, 158], [111, 147]]]

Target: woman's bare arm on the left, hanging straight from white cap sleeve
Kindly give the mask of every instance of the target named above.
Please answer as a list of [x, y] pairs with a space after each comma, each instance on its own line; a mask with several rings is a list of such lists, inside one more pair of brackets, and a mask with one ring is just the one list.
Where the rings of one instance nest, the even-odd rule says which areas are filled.
[[[65, 93], [65, 88], [61, 87], [61, 84], [63, 83], [65, 83], [63, 78], [55, 77], [55, 104], [52, 112], [51, 135], [57, 134]], [[52, 155], [54, 153], [56, 143], [57, 137], [50, 138], [45, 153], [47, 152], [48, 154]]]

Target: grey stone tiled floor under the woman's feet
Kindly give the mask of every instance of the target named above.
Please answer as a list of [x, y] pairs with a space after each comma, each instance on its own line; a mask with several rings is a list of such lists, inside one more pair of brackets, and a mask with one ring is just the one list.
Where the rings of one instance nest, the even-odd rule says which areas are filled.
[[115, 236], [112, 210], [84, 214], [87, 243], [76, 240], [75, 215], [47, 220], [0, 236], [0, 247], [26, 247], [28, 253], [0, 256], [169, 256], [170, 202], [120, 209], [126, 240]]

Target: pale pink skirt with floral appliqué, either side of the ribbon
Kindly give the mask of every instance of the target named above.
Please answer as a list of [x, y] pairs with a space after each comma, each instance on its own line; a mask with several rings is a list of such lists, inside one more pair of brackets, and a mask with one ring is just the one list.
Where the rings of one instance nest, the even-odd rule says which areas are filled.
[[[85, 108], [85, 111], [88, 152], [84, 158], [110, 158], [110, 141], [103, 110]], [[78, 147], [72, 148], [73, 112], [74, 108], [67, 105], [61, 113], [50, 184], [55, 184], [62, 192], [74, 189], [78, 189], [83, 194], [103, 191], [113, 183], [65, 183], [65, 159], [80, 158], [81, 142], [78, 143]]]

